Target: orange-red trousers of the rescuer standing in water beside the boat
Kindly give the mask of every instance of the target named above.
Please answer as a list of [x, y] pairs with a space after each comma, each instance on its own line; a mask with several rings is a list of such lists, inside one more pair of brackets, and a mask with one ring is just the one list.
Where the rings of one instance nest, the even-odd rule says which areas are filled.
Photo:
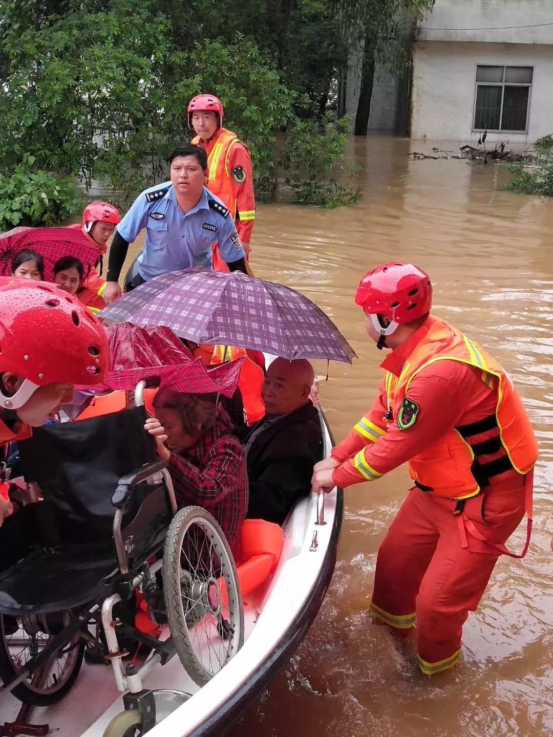
[[[419, 665], [427, 675], [459, 660], [462, 626], [501, 554], [493, 544], [506, 542], [524, 516], [524, 478], [488, 486], [465, 501], [464, 539], [456, 506], [414, 487], [378, 550], [371, 612], [398, 635], [416, 622]], [[470, 534], [475, 528], [476, 537]]]

